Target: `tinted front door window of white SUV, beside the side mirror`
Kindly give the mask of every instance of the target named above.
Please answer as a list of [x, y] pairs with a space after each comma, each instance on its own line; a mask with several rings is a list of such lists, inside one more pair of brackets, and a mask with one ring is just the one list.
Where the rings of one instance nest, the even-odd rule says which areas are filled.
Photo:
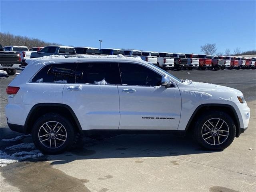
[[160, 86], [162, 76], [151, 69], [134, 63], [119, 63], [122, 84]]

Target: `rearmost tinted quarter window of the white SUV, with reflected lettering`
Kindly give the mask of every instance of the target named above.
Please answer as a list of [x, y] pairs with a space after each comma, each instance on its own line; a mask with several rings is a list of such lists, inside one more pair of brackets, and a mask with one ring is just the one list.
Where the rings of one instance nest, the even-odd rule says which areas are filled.
[[36, 83], [75, 83], [75, 63], [44, 66], [32, 79]]

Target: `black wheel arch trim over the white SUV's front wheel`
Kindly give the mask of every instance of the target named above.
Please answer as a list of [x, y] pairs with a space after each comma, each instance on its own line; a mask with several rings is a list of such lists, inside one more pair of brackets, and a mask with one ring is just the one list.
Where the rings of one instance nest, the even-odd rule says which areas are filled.
[[194, 129], [194, 122], [198, 118], [198, 116], [202, 115], [204, 111], [209, 110], [218, 110], [228, 113], [231, 118], [234, 120], [235, 126], [236, 126], [236, 137], [240, 136], [241, 129], [240, 129], [240, 121], [238, 118], [238, 115], [236, 113], [236, 110], [233, 106], [228, 104], [202, 104], [194, 110], [192, 116], [190, 117], [187, 125], [186, 125], [186, 132], [192, 132]]

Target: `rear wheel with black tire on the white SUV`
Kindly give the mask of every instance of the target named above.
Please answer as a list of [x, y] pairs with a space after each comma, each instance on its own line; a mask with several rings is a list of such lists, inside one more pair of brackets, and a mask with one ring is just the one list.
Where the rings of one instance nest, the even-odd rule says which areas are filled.
[[[56, 134], [55, 137], [52, 137], [52, 135], [49, 134], [49, 136], [47, 135], [47, 136], [44, 136], [41, 138], [42, 138], [42, 140], [44, 140], [45, 138], [47, 139], [47, 137], [51, 137], [51, 139], [50, 139], [51, 142], [48, 142], [48, 141], [50, 141], [48, 138], [48, 140], [46, 140], [43, 144], [42, 141], [40, 141], [39, 135], [40, 135], [40, 133], [45, 132], [44, 130], [48, 131], [49, 133], [53, 132], [52, 130], [54, 130], [54, 128], [53, 128], [54, 122], [59, 123], [59, 125], [56, 126], [56, 130], [57, 130], [57, 128], [60, 129], [60, 133], [62, 133], [61, 135], [66, 135], [66, 137], [60, 136], [57, 133], [55, 133]], [[48, 126], [44, 126], [44, 130], [43, 130], [41, 127], [43, 125], [45, 125], [45, 123], [47, 123], [51, 129], [49, 129]], [[51, 126], [51, 124], [52, 124], [52, 126]], [[62, 125], [62, 128], [60, 128], [61, 127], [60, 124]], [[56, 132], [56, 130], [55, 130], [55, 132]], [[64, 132], [64, 134], [63, 134], [63, 132]], [[38, 120], [36, 120], [36, 122], [32, 128], [32, 138], [33, 138], [33, 142], [34, 142], [35, 146], [40, 151], [42, 151], [44, 154], [59, 154], [59, 153], [64, 152], [65, 150], [67, 150], [70, 146], [72, 146], [74, 139], [75, 139], [75, 132], [74, 132], [74, 127], [68, 120], [66, 120], [66, 118], [64, 118], [60, 114], [48, 113], [48, 114], [45, 114], [45, 115], [41, 116], [40, 118], [38, 118]], [[49, 148], [49, 146], [47, 146], [47, 145], [50, 145], [50, 143], [52, 145], [54, 144], [53, 139], [55, 141], [57, 141], [57, 144], [59, 143], [59, 145], [60, 145], [59, 147]], [[64, 139], [65, 139], [65, 141], [63, 142]], [[55, 145], [56, 145], [56, 142], [55, 142]]]

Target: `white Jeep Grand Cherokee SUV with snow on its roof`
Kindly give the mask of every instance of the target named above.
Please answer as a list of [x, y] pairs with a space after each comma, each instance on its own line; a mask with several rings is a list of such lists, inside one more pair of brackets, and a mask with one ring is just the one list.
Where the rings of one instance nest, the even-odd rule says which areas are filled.
[[76, 132], [194, 133], [211, 150], [228, 147], [248, 127], [250, 109], [236, 89], [179, 80], [140, 58], [46, 56], [8, 86], [6, 117], [36, 147], [56, 154]]

